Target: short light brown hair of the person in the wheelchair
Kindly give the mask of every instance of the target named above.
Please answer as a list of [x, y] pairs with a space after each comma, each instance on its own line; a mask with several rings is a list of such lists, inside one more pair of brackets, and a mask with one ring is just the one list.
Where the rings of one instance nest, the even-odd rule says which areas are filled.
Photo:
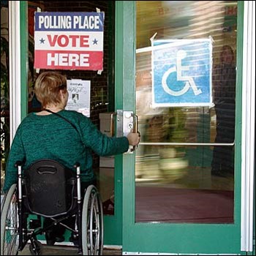
[[34, 92], [45, 108], [46, 105], [58, 105], [61, 102], [59, 92], [67, 91], [67, 78], [57, 72], [42, 72], [36, 80]]

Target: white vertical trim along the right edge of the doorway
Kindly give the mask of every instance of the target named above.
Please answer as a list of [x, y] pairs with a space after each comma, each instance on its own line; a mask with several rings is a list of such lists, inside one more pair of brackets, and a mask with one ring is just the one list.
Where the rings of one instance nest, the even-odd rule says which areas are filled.
[[243, 38], [241, 251], [252, 252], [255, 185], [255, 1], [244, 1]]

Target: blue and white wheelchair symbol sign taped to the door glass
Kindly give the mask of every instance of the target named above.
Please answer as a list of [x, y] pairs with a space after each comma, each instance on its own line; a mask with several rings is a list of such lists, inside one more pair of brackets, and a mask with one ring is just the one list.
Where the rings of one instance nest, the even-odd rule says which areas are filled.
[[211, 39], [152, 40], [153, 107], [211, 106]]

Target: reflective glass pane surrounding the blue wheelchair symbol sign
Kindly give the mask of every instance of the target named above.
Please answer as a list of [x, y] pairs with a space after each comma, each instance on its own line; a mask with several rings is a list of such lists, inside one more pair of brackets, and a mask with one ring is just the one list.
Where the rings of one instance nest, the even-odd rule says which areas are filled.
[[[233, 223], [237, 1], [137, 1], [136, 7], [135, 221]], [[152, 107], [153, 36], [213, 39], [214, 105]]]

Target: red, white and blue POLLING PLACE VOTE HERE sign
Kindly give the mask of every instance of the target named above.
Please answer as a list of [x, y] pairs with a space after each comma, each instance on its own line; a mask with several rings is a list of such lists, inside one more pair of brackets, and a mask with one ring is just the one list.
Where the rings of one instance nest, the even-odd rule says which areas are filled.
[[103, 69], [104, 12], [35, 12], [34, 67]]

